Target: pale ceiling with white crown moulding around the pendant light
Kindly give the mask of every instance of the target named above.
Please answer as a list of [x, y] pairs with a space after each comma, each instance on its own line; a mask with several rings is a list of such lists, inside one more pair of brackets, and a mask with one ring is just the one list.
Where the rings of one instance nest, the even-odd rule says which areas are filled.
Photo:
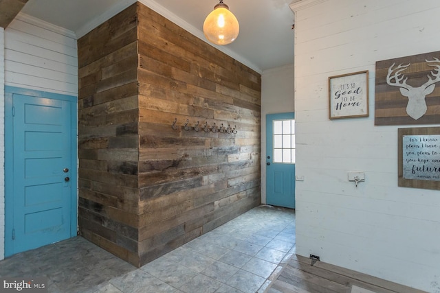
[[[21, 12], [75, 32], [80, 38], [136, 0], [28, 0]], [[240, 24], [230, 45], [217, 46], [262, 73], [294, 62], [292, 0], [223, 0]], [[141, 3], [206, 40], [201, 28], [219, 0], [140, 0]]]

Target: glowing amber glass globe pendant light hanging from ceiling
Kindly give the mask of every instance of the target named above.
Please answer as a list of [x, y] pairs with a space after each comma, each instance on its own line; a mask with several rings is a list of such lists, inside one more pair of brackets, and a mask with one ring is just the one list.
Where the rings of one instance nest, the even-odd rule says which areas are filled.
[[239, 35], [239, 30], [239, 21], [223, 0], [214, 6], [214, 10], [206, 16], [203, 23], [203, 34], [211, 43], [217, 45], [232, 43]]

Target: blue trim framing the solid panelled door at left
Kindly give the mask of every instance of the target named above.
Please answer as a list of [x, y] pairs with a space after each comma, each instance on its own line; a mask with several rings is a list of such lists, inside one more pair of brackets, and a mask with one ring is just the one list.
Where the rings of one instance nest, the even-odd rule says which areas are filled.
[[22, 89], [15, 86], [5, 86], [5, 257], [14, 254], [12, 246], [12, 223], [14, 220], [13, 207], [10, 209], [10, 202], [14, 198], [14, 178], [13, 178], [13, 154], [14, 154], [14, 133], [12, 132], [12, 103], [14, 95], [28, 95], [32, 97], [46, 97], [58, 99], [72, 103], [72, 145], [71, 145], [71, 165], [72, 167], [72, 193], [71, 193], [71, 217], [70, 217], [70, 237], [76, 236], [78, 227], [78, 97], [72, 95], [63, 95], [58, 93], [49, 93], [31, 89]]

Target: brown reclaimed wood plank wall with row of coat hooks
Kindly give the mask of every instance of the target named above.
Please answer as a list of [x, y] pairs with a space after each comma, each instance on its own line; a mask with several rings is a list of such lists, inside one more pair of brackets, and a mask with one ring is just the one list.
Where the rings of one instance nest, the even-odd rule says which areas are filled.
[[259, 73], [141, 3], [78, 58], [85, 237], [142, 266], [260, 204]]

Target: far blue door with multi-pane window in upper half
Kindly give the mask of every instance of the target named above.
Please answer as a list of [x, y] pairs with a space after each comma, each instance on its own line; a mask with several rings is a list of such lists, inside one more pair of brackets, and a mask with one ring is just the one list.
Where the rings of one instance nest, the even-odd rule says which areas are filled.
[[266, 115], [266, 203], [295, 209], [294, 113]]

